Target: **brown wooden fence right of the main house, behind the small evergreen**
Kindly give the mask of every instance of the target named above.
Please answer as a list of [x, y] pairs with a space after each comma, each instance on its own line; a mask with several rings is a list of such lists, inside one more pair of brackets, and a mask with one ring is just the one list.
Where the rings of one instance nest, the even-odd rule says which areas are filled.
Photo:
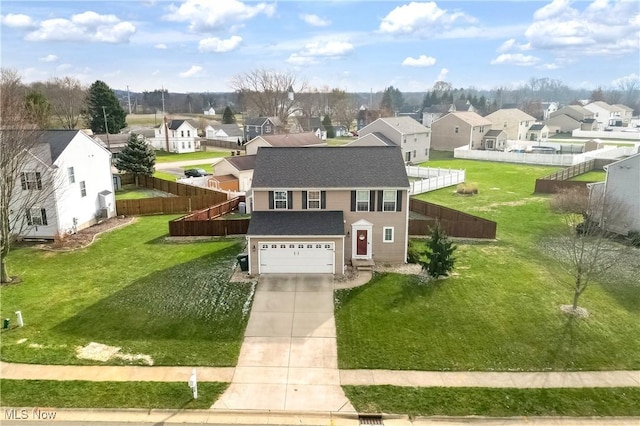
[[409, 200], [409, 210], [429, 218], [409, 219], [409, 235], [428, 235], [429, 228], [440, 222], [444, 231], [451, 237], [496, 238], [497, 224], [491, 220], [414, 198]]

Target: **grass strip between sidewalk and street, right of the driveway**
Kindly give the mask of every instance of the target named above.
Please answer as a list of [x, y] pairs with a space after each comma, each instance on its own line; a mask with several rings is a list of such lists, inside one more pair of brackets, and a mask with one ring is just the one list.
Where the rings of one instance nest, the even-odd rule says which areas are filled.
[[640, 388], [343, 388], [360, 413], [490, 417], [640, 415]]

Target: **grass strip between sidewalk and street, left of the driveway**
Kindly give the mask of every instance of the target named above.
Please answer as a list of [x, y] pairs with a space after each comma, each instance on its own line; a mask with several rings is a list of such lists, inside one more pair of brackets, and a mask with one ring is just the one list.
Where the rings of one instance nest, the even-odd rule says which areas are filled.
[[[227, 383], [198, 382], [193, 399], [185, 382], [88, 382], [57, 380], [2, 380], [3, 407], [209, 409]], [[29, 413], [31, 415], [31, 412]]]

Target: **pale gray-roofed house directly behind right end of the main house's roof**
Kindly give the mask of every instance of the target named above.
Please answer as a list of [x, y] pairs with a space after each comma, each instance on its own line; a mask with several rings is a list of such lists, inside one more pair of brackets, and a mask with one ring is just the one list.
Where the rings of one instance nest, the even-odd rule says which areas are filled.
[[[369, 138], [375, 135], [376, 138]], [[384, 117], [358, 131], [359, 138], [349, 146], [399, 146], [406, 162], [421, 163], [429, 160], [431, 130], [411, 117]]]

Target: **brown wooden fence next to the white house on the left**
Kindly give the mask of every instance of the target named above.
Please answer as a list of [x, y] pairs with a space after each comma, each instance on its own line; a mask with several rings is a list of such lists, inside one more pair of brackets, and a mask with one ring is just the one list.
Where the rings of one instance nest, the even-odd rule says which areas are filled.
[[[123, 185], [135, 183], [131, 174], [121, 175]], [[138, 185], [177, 195], [137, 200], [116, 200], [116, 212], [120, 215], [173, 214], [201, 210], [227, 200], [227, 193], [210, 188], [169, 182], [149, 176], [138, 176]]]

